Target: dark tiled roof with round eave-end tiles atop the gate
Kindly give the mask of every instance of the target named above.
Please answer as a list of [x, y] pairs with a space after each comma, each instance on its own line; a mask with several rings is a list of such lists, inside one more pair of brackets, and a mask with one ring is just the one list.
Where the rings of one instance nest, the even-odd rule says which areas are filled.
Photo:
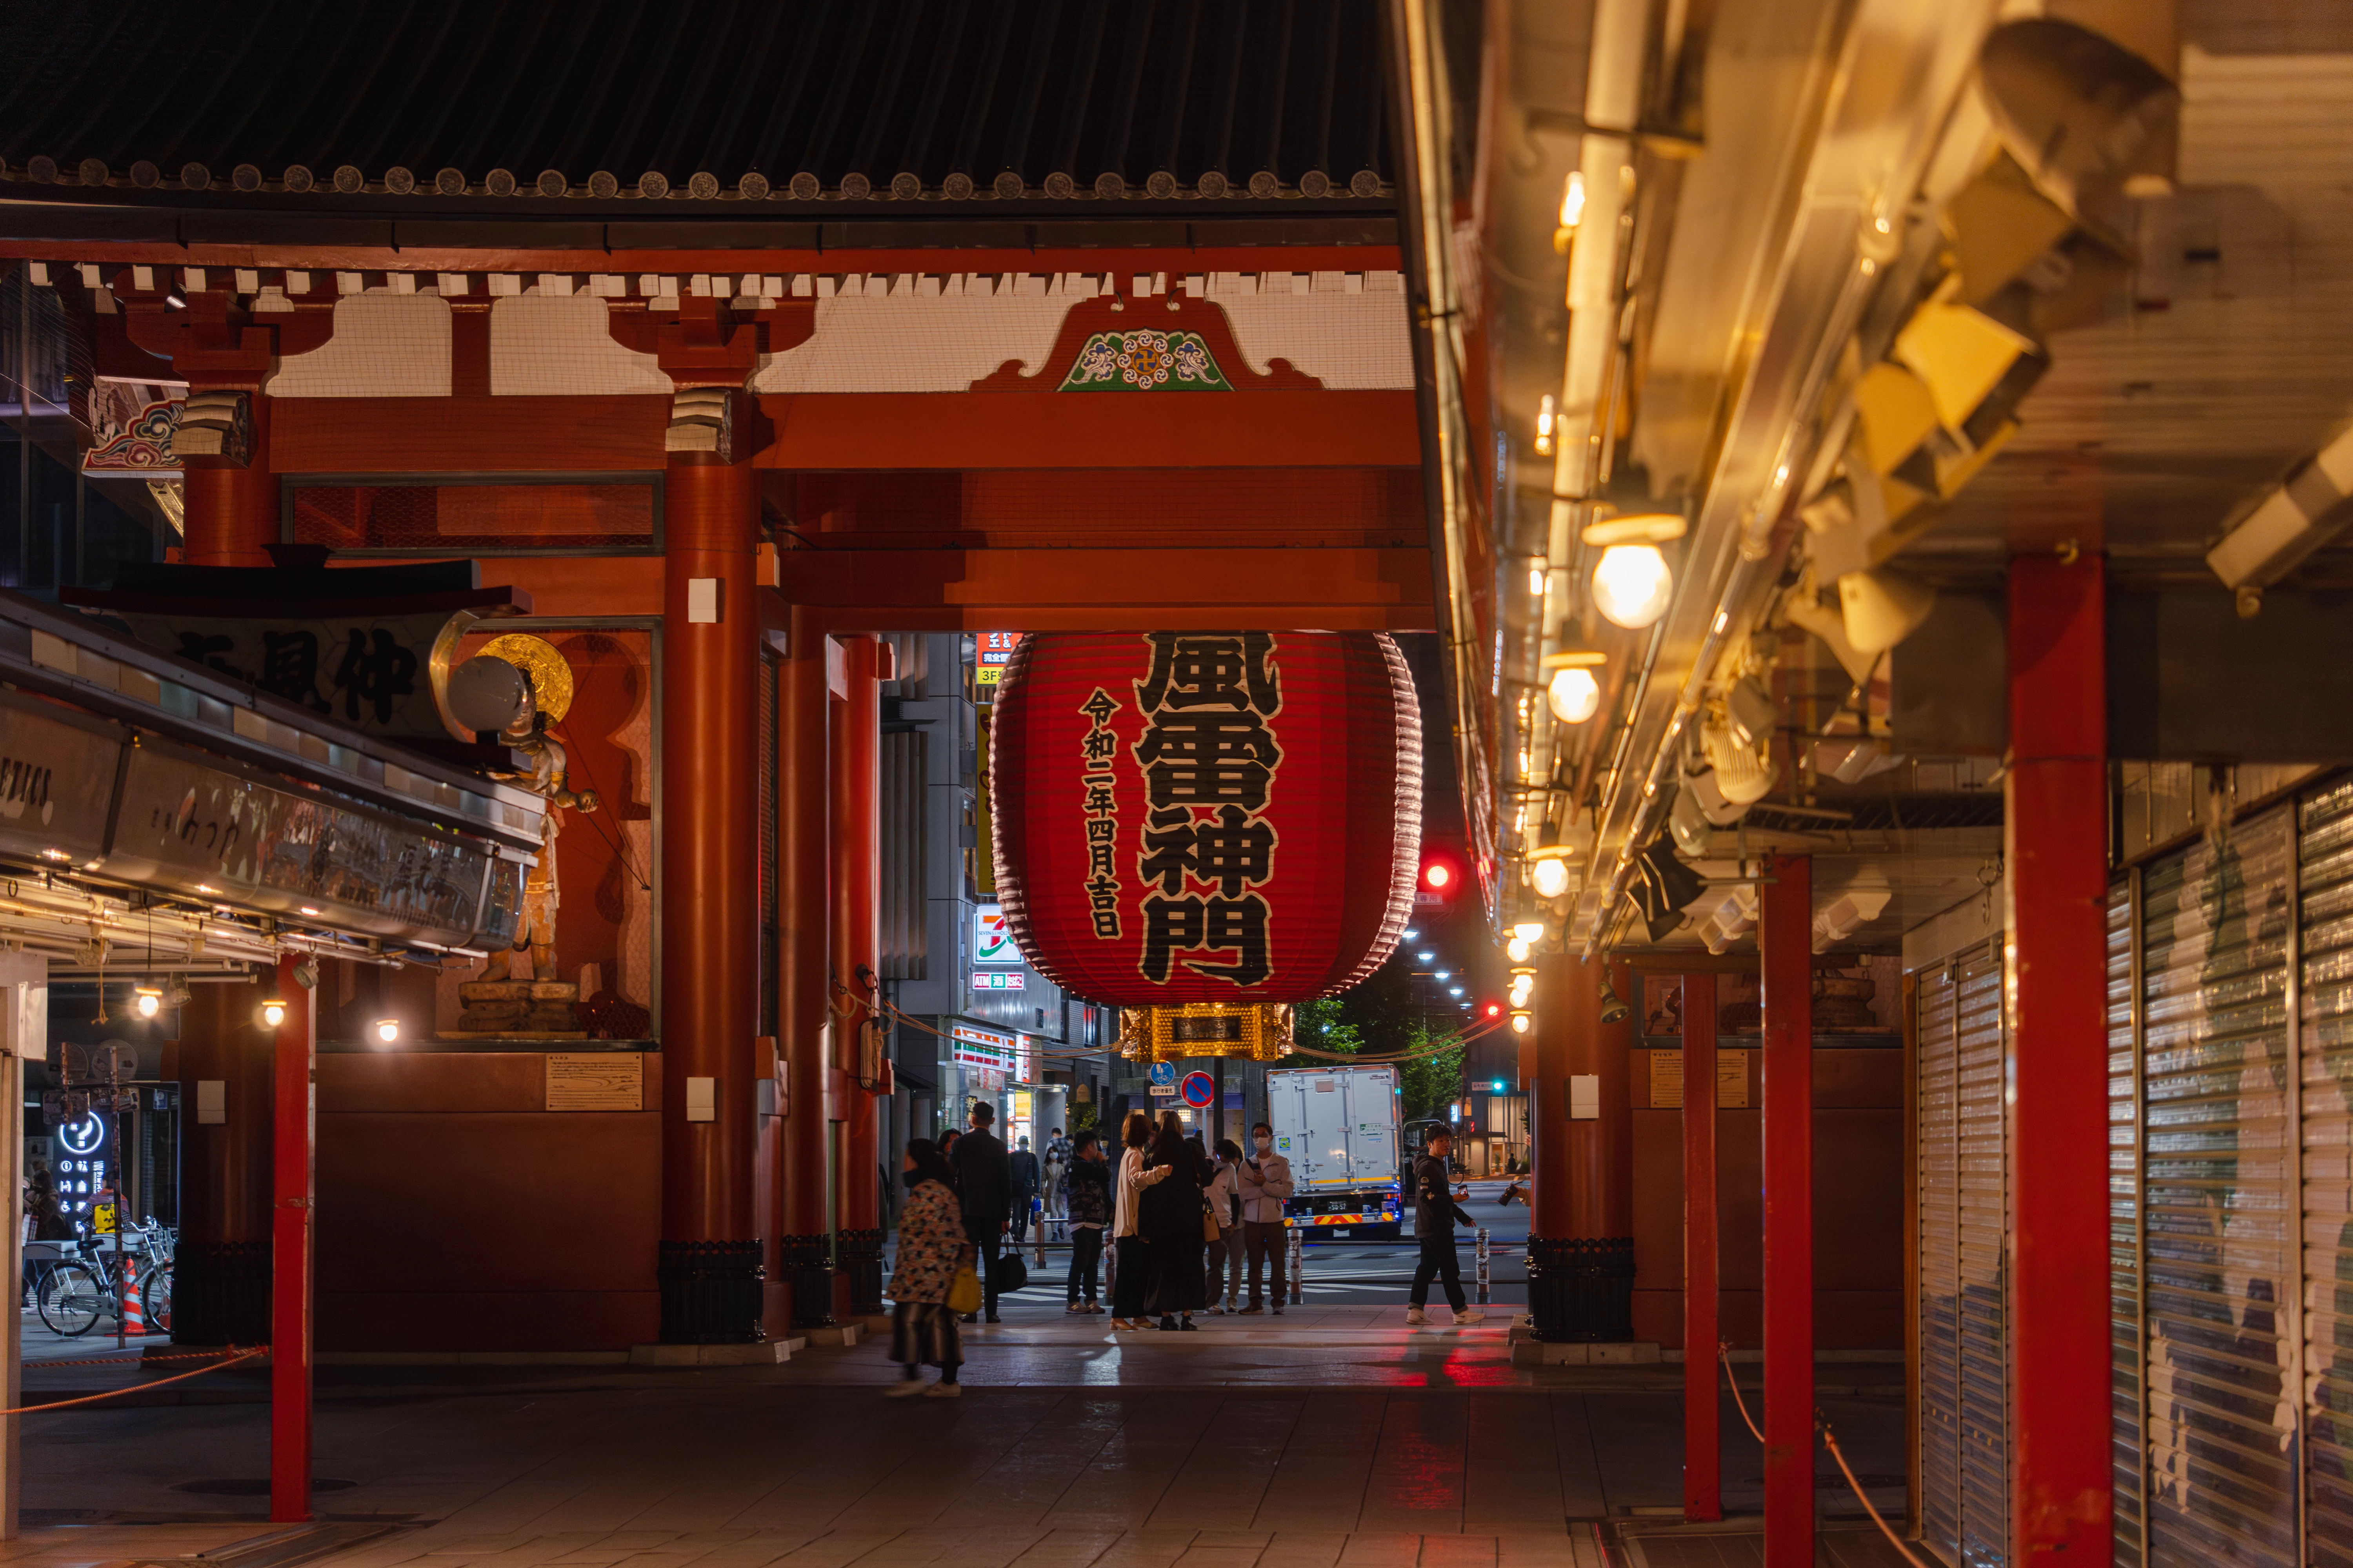
[[1388, 195], [1372, 0], [0, 7], [0, 160], [127, 202]]

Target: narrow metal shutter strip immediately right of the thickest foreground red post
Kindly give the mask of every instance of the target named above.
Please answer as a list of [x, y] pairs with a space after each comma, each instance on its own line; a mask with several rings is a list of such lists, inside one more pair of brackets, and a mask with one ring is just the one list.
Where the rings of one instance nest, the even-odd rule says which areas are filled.
[[2108, 893], [2108, 1326], [2115, 1380], [2115, 1561], [2141, 1561], [2141, 1063], [2132, 884]]

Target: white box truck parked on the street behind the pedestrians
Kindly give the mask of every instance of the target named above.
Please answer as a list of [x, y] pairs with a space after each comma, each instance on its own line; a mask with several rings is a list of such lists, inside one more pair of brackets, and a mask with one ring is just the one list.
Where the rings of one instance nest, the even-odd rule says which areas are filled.
[[1292, 1161], [1282, 1222], [1329, 1239], [1398, 1239], [1398, 1070], [1285, 1067], [1266, 1074], [1266, 1121]]

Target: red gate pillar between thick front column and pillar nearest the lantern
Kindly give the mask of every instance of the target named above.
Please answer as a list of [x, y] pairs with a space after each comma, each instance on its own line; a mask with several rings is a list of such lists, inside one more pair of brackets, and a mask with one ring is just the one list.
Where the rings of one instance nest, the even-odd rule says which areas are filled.
[[793, 609], [779, 670], [776, 994], [784, 1030], [784, 1152], [776, 1161], [776, 1272], [793, 1291], [793, 1328], [833, 1324], [828, 1182], [831, 966], [826, 898], [826, 705], [838, 646], [807, 607]]

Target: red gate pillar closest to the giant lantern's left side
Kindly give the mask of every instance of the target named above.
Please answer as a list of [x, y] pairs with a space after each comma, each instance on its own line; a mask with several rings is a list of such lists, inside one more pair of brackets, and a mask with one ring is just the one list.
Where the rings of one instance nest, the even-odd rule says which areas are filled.
[[[842, 637], [842, 696], [831, 715], [831, 877], [833, 943], [831, 978], [849, 994], [835, 994], [838, 1009], [873, 1001], [880, 990], [882, 945], [882, 661], [889, 649], [873, 637]], [[875, 1098], [861, 1084], [873, 1081], [864, 1065], [861, 1039], [880, 1013], [859, 1006], [833, 1027], [835, 1065], [842, 1070], [838, 1180], [838, 1251], [835, 1295], [852, 1316], [882, 1312], [882, 1194], [880, 1140], [875, 1133]]]

